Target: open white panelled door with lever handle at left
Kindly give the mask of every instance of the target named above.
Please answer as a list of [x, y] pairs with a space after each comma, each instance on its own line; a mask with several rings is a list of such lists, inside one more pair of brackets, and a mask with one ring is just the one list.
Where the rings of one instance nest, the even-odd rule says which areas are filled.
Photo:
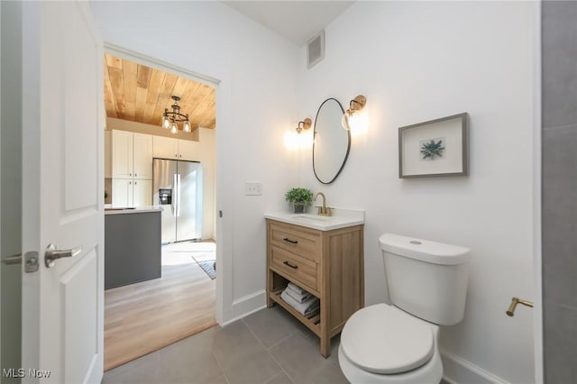
[[[23, 2], [22, 23], [23, 252], [37, 252], [39, 261], [37, 271], [23, 273], [23, 382], [99, 383], [104, 344], [102, 43], [84, 2]], [[50, 243], [81, 251], [48, 268]]]

